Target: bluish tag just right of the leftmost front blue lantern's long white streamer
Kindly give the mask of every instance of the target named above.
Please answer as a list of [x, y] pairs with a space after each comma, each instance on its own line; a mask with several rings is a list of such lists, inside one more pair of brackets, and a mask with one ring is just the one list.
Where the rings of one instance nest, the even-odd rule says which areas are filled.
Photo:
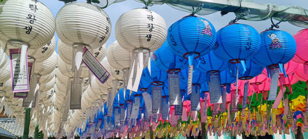
[[199, 85], [193, 84], [191, 88], [191, 111], [200, 111], [200, 93], [199, 93]]

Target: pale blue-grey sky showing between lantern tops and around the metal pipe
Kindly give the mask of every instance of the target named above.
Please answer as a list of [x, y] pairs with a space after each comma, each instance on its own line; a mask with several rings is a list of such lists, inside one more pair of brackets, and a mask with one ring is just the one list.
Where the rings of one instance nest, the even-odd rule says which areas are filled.
[[[62, 8], [62, 6], [65, 5], [65, 3], [63, 3], [62, 1], [58, 1], [58, 0], [39, 0], [39, 1], [44, 3], [51, 10], [54, 16], [57, 15], [60, 8]], [[85, 2], [85, 0], [78, 0], [78, 1]], [[253, 0], [253, 1], [256, 3], [275, 3], [279, 6], [302, 6], [302, 8], [308, 9], [307, 0], [292, 0], [292, 1], [291, 0]], [[109, 40], [106, 42], [107, 46], [109, 44], [112, 44], [112, 42], [116, 40], [114, 37], [114, 26], [117, 22], [117, 19], [123, 13], [126, 13], [129, 10], [132, 10], [134, 8], [142, 8], [142, 7], [144, 7], [143, 3], [139, 3], [134, 0], [126, 0], [120, 3], [114, 3], [104, 9], [105, 12], [109, 15], [111, 22], [112, 22], [112, 34], [110, 35]], [[176, 22], [178, 19], [181, 19], [182, 17], [190, 14], [187, 12], [183, 12], [181, 10], [176, 10], [175, 8], [171, 8], [170, 6], [166, 4], [150, 6], [148, 7], [148, 9], [153, 10], [155, 13], [158, 13], [160, 16], [162, 16], [165, 19], [167, 26], [171, 26], [171, 24]], [[208, 19], [209, 22], [211, 22], [214, 25], [216, 31], [219, 31], [220, 28], [223, 28], [223, 26], [227, 25], [235, 17], [234, 13], [228, 13], [228, 15], [224, 15], [222, 17], [220, 15], [220, 12], [216, 12], [211, 15], [198, 15], [198, 16]], [[250, 21], [239, 20], [238, 23], [249, 24], [250, 26], [253, 26], [254, 28], [256, 28], [257, 31], [259, 32], [264, 31], [266, 28], [271, 26], [270, 20], [266, 20], [262, 22], [250, 22]], [[291, 35], [293, 35], [294, 33], [300, 31], [303, 28], [293, 26], [292, 24], [289, 24], [288, 22], [282, 22], [280, 24], [279, 29], [286, 31], [290, 33]], [[57, 36], [56, 36], [56, 39], [58, 42]]]

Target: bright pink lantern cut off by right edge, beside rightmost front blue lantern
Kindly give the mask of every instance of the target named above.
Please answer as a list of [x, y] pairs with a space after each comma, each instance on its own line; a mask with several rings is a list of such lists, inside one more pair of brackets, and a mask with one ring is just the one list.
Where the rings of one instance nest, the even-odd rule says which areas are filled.
[[293, 35], [296, 40], [296, 55], [292, 60], [297, 63], [306, 63], [308, 61], [308, 28], [298, 31]]

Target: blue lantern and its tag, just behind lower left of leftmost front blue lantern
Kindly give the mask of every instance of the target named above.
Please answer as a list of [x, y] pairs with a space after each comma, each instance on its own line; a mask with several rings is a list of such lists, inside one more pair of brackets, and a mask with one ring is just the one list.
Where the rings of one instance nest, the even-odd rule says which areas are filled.
[[178, 73], [188, 67], [188, 61], [173, 54], [168, 45], [167, 42], [164, 42], [160, 49], [154, 51], [152, 60], [155, 67], [168, 73], [169, 103], [171, 105], [181, 105], [180, 76]]

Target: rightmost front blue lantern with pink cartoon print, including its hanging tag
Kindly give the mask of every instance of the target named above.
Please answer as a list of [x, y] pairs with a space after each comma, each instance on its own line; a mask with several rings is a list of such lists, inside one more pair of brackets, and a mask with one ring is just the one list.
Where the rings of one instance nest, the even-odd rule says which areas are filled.
[[266, 67], [268, 76], [271, 75], [271, 90], [268, 100], [275, 100], [279, 73], [287, 77], [284, 64], [296, 54], [296, 41], [289, 33], [278, 30], [266, 30], [260, 33], [261, 48], [252, 58], [257, 65]]

